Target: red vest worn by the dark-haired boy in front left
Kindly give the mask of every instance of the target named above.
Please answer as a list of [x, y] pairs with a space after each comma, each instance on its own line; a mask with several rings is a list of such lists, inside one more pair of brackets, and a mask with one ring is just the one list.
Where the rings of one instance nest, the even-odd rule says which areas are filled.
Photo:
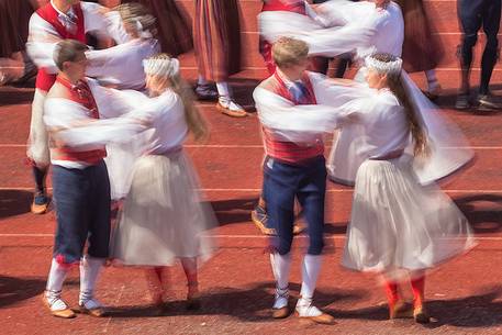
[[[86, 81], [80, 81], [78, 86], [74, 86], [71, 82], [60, 77], [57, 77], [56, 80], [67, 88], [69, 100], [87, 108], [90, 111], [90, 116], [92, 119], [99, 119], [98, 105]], [[104, 157], [107, 157], [107, 150], [104, 148], [88, 152], [74, 152], [68, 147], [58, 147], [53, 149], [52, 153], [52, 158], [54, 160], [83, 161], [88, 165], [96, 165]]]

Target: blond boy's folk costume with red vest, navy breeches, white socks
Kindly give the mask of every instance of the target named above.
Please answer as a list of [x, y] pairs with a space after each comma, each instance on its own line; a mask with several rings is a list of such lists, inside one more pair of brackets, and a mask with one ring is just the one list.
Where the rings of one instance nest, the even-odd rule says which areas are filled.
[[[294, 199], [308, 222], [310, 245], [302, 265], [301, 299], [297, 311], [301, 317], [332, 323], [333, 317], [313, 305], [313, 293], [321, 270], [323, 250], [324, 197], [326, 169], [322, 133], [333, 130], [333, 108], [317, 107], [316, 90], [322, 81], [305, 72], [292, 82], [280, 69], [254, 91], [263, 125], [266, 159], [264, 164], [264, 199], [270, 225], [270, 263], [276, 278], [275, 317], [288, 314], [291, 243], [293, 241]], [[326, 94], [328, 96], [328, 94]], [[287, 115], [287, 118], [282, 118]], [[286, 121], [287, 120], [287, 121]], [[293, 121], [294, 120], [294, 121]], [[292, 121], [292, 122], [291, 122]], [[306, 129], [306, 130], [305, 130]]]

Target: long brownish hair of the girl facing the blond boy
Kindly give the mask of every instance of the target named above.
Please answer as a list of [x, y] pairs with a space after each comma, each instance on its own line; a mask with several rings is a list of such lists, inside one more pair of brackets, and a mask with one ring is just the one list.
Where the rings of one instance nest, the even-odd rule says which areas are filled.
[[[394, 62], [397, 59], [394, 56], [384, 53], [377, 53], [371, 55], [371, 57], [384, 63]], [[413, 154], [415, 156], [428, 155], [426, 130], [424, 130], [422, 124], [419, 122], [417, 112], [411, 102], [410, 97], [408, 97], [401, 72], [388, 72], [387, 85], [392, 93], [398, 98], [399, 102], [404, 108], [404, 112], [406, 113], [410, 132], [414, 143]]]

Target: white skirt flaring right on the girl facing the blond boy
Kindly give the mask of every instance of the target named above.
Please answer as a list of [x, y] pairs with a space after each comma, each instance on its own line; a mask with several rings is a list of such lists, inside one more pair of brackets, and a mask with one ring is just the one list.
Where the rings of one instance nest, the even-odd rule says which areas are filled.
[[360, 271], [423, 270], [475, 246], [467, 219], [436, 185], [423, 187], [410, 159], [359, 167], [343, 265]]

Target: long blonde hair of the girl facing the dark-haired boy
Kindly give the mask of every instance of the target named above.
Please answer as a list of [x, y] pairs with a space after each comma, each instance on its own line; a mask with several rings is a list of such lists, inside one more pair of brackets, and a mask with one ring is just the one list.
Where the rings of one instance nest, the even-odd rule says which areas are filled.
[[[176, 64], [178, 64], [177, 59], [169, 57], [167, 54], [157, 54], [149, 57], [148, 60], [165, 60], [166, 64], [172, 64], [172, 60], [175, 60]], [[167, 71], [164, 71], [164, 79], [166, 80], [166, 83], [168, 83], [172, 91], [181, 98], [183, 103], [185, 120], [187, 122], [188, 130], [193, 134], [197, 142], [207, 141], [210, 134], [208, 122], [193, 103], [194, 94], [192, 88], [183, 78], [181, 78], [179, 69], [169, 69], [167, 67], [165, 69], [167, 69]]]

